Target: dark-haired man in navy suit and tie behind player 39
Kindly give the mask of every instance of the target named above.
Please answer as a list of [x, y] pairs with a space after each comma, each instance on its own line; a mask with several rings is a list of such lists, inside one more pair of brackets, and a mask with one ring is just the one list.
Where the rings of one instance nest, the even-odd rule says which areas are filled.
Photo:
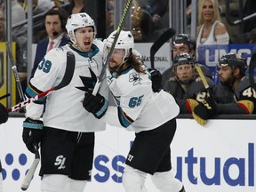
[[65, 29], [67, 20], [68, 13], [61, 8], [53, 7], [46, 12], [44, 16], [46, 37], [37, 44], [36, 57], [30, 78], [34, 76], [36, 68], [40, 61], [43, 60], [46, 52], [49, 52], [52, 48], [68, 43], [69, 38]]

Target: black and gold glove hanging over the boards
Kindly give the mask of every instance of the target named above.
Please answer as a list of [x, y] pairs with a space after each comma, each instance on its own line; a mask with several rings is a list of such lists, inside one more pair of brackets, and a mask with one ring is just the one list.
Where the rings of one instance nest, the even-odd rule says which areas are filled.
[[192, 115], [198, 124], [206, 124], [206, 120], [215, 115], [216, 103], [212, 97], [206, 97], [194, 108]]

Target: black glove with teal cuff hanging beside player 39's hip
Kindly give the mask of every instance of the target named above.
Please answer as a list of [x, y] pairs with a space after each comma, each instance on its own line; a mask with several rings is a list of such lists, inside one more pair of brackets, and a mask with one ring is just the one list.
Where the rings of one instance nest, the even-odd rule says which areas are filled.
[[29, 117], [23, 122], [22, 139], [31, 153], [36, 152], [35, 146], [37, 149], [39, 148], [39, 143], [42, 140], [43, 126], [42, 121], [33, 120]]

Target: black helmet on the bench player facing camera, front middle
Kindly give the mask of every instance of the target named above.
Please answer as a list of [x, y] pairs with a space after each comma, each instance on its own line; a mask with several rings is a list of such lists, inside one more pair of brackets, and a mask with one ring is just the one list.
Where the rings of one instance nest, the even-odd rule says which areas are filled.
[[[172, 72], [173, 72], [174, 76], [176, 77], [176, 79], [181, 84], [189, 84], [196, 78], [195, 63], [196, 63], [195, 58], [193, 56], [191, 56], [188, 52], [177, 54], [174, 57], [173, 62], [172, 62]], [[180, 65], [185, 65], [185, 64], [191, 65], [193, 74], [192, 74], [192, 77], [190, 77], [189, 79], [181, 80], [179, 78], [179, 76], [177, 76], [177, 67]]]

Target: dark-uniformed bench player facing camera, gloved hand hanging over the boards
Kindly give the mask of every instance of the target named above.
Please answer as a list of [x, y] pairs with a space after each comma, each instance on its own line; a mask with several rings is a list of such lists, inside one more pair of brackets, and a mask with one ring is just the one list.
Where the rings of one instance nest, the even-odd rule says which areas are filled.
[[[164, 84], [164, 91], [170, 92], [175, 98], [180, 107], [180, 114], [193, 114], [196, 121], [204, 125], [206, 119], [214, 115], [214, 102], [209, 97], [214, 84], [212, 79], [205, 76], [209, 84], [209, 90], [205, 90], [201, 78], [196, 73], [195, 64], [194, 57], [187, 52], [177, 54], [173, 59], [173, 77]], [[205, 108], [205, 103], [211, 108]]]

